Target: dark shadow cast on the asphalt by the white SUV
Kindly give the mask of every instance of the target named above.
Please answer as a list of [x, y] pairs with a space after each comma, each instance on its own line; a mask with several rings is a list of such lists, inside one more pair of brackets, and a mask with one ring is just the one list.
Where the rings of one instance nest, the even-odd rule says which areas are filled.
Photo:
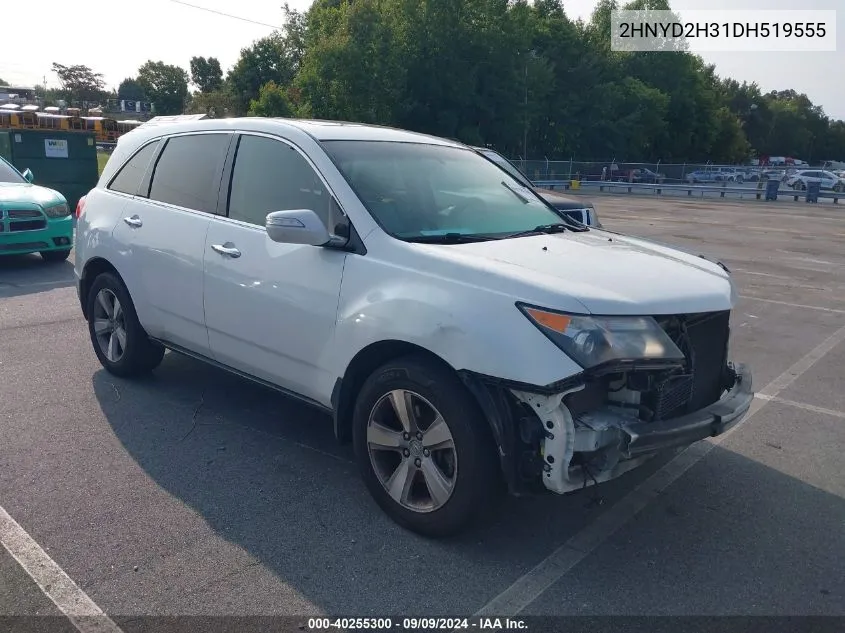
[[[591, 507], [589, 489], [506, 499], [485, 527], [431, 541], [377, 509], [329, 418], [305, 405], [174, 354], [144, 381], [100, 371], [93, 385], [117, 438], [158, 486], [330, 614], [472, 613], [666, 461], [600, 487], [602, 507]], [[169, 404], [153, 409], [157, 399]], [[671, 503], [655, 515], [664, 498]], [[761, 615], [796, 604], [829, 613], [836, 602], [821, 590], [843, 589], [832, 577], [845, 532], [831, 530], [845, 525], [845, 500], [737, 453], [714, 450], [645, 514], [648, 523], [629, 523], [529, 612], [645, 615], [650, 603], [661, 615], [750, 604]], [[788, 599], [801, 587], [803, 602]]]

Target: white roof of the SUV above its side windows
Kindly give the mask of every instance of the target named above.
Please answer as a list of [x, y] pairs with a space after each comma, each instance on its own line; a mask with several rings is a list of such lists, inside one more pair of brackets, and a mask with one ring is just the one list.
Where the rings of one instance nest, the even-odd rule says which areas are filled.
[[[199, 115], [204, 116], [204, 115]], [[191, 118], [188, 118], [191, 117]], [[243, 117], [232, 119], [196, 119], [192, 115], [180, 117], [155, 117], [128, 134], [141, 139], [166, 133], [199, 132], [203, 130], [242, 129], [255, 132], [307, 134], [318, 141], [394, 141], [405, 143], [426, 143], [430, 145], [447, 145], [464, 147], [458, 142], [384, 127], [367, 125], [364, 123], [350, 123], [345, 121], [320, 121], [309, 119], [283, 119], [263, 117]], [[125, 136], [128, 136], [125, 135]]]

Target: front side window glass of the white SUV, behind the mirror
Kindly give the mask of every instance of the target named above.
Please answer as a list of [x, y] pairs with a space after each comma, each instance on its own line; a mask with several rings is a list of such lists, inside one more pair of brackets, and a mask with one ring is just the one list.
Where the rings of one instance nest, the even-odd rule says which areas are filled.
[[305, 158], [264, 136], [245, 134], [238, 142], [228, 209], [230, 218], [262, 227], [273, 211], [311, 209], [330, 233], [348, 230], [347, 218]]

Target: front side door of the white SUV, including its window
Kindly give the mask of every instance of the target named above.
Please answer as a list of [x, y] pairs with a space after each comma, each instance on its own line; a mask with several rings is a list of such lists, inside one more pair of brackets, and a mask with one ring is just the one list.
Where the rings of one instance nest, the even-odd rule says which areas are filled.
[[331, 345], [348, 253], [273, 242], [268, 213], [311, 209], [331, 233], [346, 216], [305, 155], [278, 137], [242, 134], [227, 167], [226, 217], [209, 227], [205, 311], [214, 358], [330, 404]]

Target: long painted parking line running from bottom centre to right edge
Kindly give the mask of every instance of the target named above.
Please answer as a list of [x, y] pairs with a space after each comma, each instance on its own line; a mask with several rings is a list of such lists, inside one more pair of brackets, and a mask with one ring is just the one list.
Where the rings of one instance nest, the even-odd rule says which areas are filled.
[[839, 328], [810, 350], [780, 376], [772, 380], [757, 393], [745, 418], [735, 427], [706, 442], [698, 442], [686, 448], [660, 470], [622, 497], [616, 504], [570, 537], [533, 569], [518, 578], [490, 602], [481, 607], [476, 616], [516, 616], [529, 604], [539, 598], [549, 587], [566, 576], [600, 545], [605, 543], [623, 525], [640, 513], [666, 488], [679, 479], [734, 431], [754, 417], [768, 402], [810, 370], [837, 345], [845, 341], [845, 326]]

